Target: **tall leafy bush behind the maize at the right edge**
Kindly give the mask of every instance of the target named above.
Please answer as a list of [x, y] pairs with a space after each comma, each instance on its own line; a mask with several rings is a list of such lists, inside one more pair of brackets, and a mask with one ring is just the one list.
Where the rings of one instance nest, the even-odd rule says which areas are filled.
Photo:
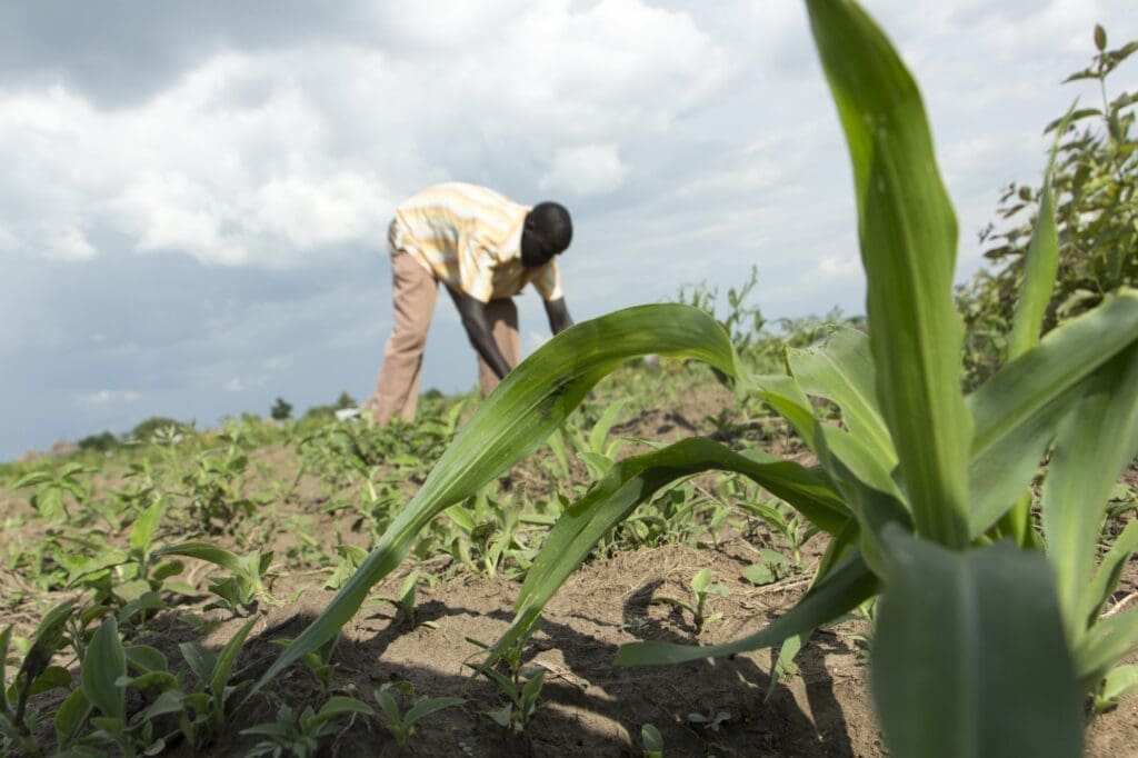
[[[1058, 275], [1044, 318], [1045, 332], [1094, 308], [1120, 287], [1138, 286], [1138, 134], [1133, 130], [1138, 93], [1120, 92], [1113, 99], [1107, 94], [1110, 74], [1138, 51], [1138, 41], [1108, 50], [1100, 26], [1095, 28], [1094, 41], [1098, 52], [1092, 64], [1066, 82], [1095, 82], [1102, 105], [1074, 109], [1044, 130], [1057, 140], [1053, 191], [1059, 239]], [[967, 332], [970, 385], [1003, 364], [1041, 193], [1041, 184], [1013, 182], [1004, 189], [999, 220], [981, 232], [981, 240], [992, 244], [984, 256], [997, 267], [981, 271], [957, 291]]]

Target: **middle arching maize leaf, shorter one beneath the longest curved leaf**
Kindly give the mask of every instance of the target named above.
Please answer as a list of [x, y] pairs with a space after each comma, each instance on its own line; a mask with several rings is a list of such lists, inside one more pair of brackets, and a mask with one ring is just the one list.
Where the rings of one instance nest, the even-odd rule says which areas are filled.
[[850, 520], [841, 499], [825, 479], [798, 463], [758, 451], [741, 455], [710, 439], [692, 438], [625, 459], [615, 463], [550, 532], [526, 574], [514, 604], [513, 623], [483, 666], [530, 634], [545, 603], [585, 562], [596, 543], [637, 505], [651, 500], [661, 487], [707, 470], [750, 477], [826, 532], [838, 533]]

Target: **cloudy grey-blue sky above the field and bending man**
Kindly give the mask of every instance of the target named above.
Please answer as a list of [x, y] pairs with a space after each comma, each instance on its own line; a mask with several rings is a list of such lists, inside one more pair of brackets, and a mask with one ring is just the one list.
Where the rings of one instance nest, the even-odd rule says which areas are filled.
[[[1133, 0], [866, 0], [924, 91], [960, 219], [1037, 180], [1091, 30]], [[1115, 91], [1138, 89], [1138, 61]], [[792, 0], [0, 5], [0, 459], [155, 414], [366, 397], [384, 230], [463, 180], [576, 221], [578, 320], [726, 288], [863, 310], [850, 173]], [[527, 349], [547, 335], [520, 299]], [[424, 387], [475, 385], [440, 299]]]

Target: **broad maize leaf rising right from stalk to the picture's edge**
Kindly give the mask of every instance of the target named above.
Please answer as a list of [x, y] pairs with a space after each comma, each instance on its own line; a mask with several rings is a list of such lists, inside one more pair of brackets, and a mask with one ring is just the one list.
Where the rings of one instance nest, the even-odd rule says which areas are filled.
[[1123, 289], [1048, 332], [973, 393], [973, 537], [1011, 508], [1031, 481], [1059, 421], [1090, 392], [1095, 374], [1136, 340], [1138, 290]]

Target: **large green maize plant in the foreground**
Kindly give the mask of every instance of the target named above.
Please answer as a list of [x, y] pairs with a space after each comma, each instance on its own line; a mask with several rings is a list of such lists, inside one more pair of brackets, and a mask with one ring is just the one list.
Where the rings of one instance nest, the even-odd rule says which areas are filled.
[[[1045, 195], [1016, 314], [1017, 347], [962, 390], [953, 299], [957, 224], [916, 83], [851, 0], [807, 0], [853, 168], [868, 335], [839, 329], [786, 351], [786, 372], [747, 376], [729, 336], [683, 305], [577, 324], [517, 370], [460, 430], [422, 488], [324, 612], [264, 675], [331, 638], [419, 532], [541, 445], [589, 389], [645, 354], [700, 359], [761, 397], [817, 458], [686, 439], [613, 463], [555, 524], [490, 660], [525, 641], [594, 545], [662, 487], [707, 470], [748, 477], [830, 535], [810, 590], [729, 644], [622, 648], [621, 665], [724, 656], [799, 640], [881, 595], [872, 683], [897, 756], [1073, 756], [1083, 703], [1138, 641], [1138, 610], [1099, 613], [1138, 532], [1096, 568], [1111, 489], [1138, 451], [1138, 293], [1122, 289], [1041, 341], [1055, 274]], [[841, 423], [811, 397], [841, 410]], [[1041, 495], [1046, 553], [1024, 493], [1050, 453]], [[1132, 679], [1115, 675], [1112, 692]]]

